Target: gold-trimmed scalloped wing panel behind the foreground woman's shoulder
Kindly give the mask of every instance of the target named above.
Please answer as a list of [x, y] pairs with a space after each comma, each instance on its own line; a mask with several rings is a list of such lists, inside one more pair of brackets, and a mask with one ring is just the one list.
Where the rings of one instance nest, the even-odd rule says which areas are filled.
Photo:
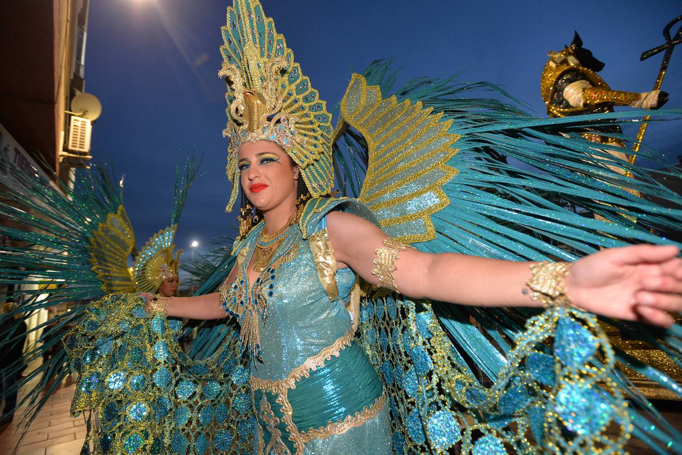
[[[435, 237], [431, 216], [450, 203], [443, 186], [457, 174], [447, 163], [460, 137], [452, 121], [421, 102], [383, 98], [381, 89], [353, 74], [340, 106], [341, 122], [366, 139], [368, 170], [359, 194], [384, 231], [406, 243]], [[342, 123], [340, 123], [342, 125]]]

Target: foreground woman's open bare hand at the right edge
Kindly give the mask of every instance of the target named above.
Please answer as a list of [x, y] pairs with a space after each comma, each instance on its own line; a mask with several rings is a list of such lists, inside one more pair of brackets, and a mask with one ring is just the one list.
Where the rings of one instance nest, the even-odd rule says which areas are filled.
[[610, 248], [576, 261], [565, 287], [578, 308], [669, 326], [682, 311], [682, 259], [676, 246]]

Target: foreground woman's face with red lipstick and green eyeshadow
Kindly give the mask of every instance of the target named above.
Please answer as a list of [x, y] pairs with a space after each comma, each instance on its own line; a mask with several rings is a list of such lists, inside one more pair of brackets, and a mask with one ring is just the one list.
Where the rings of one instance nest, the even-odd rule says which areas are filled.
[[296, 201], [299, 170], [276, 143], [243, 143], [238, 166], [241, 188], [256, 209], [269, 211], [286, 199]]

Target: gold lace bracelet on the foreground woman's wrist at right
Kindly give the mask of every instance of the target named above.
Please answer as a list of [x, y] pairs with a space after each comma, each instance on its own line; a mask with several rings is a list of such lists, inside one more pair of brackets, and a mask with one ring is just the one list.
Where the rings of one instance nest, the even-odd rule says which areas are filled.
[[576, 308], [566, 295], [565, 278], [569, 273], [569, 263], [544, 261], [531, 264], [533, 276], [526, 282], [531, 288], [531, 299], [539, 300], [548, 308], [560, 306], [562, 308]]

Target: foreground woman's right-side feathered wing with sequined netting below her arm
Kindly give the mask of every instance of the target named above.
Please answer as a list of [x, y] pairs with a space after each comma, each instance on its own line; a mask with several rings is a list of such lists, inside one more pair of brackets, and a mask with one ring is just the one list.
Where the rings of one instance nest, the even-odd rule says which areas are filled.
[[[385, 96], [393, 80], [382, 61], [353, 75], [334, 145], [340, 190], [368, 205], [391, 237], [426, 252], [573, 261], [602, 247], [669, 243], [666, 233], [682, 229], [679, 194], [580, 136], [642, 113], [537, 119], [499, 100], [466, 98], [475, 89], [505, 96], [491, 85], [421, 78]], [[679, 115], [657, 115], [670, 113]], [[661, 334], [609, 322], [623, 338], [645, 340], [668, 355], [666, 372], [682, 377], [678, 326]], [[623, 394], [636, 407], [649, 405], [617, 366], [633, 368], [673, 396], [682, 396], [679, 387], [651, 362], [612, 348], [589, 314], [370, 293], [361, 332], [394, 396], [394, 447], [405, 452], [454, 445], [464, 453], [506, 445], [526, 452], [533, 450], [529, 435], [562, 453], [618, 453], [630, 434], [660, 453], [682, 447], [682, 435], [657, 413], [642, 417], [628, 408]], [[597, 415], [580, 402], [606, 411]], [[609, 422], [619, 430], [604, 432]]]

